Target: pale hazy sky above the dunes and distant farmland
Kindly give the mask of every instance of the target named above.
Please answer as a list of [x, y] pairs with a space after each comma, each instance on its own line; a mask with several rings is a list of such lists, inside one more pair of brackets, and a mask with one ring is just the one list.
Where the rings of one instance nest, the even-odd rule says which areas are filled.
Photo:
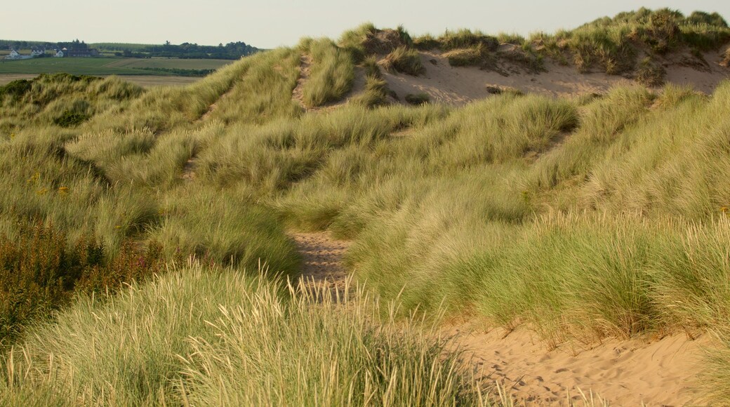
[[291, 46], [303, 36], [337, 39], [364, 22], [402, 24], [412, 35], [470, 28], [527, 35], [575, 28], [603, 16], [648, 7], [685, 14], [719, 12], [730, 1], [593, 0], [28, 0], [0, 7], [0, 39], [217, 45], [242, 41], [259, 48]]

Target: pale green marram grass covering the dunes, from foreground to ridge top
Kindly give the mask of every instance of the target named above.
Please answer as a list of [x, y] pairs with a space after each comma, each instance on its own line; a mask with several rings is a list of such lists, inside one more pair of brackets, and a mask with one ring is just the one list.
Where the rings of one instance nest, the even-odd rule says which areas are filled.
[[[719, 46], [728, 30], [718, 18], [639, 10], [541, 36], [556, 54], [532, 39], [520, 55], [534, 69], [559, 55], [579, 68], [622, 66], [611, 61], [629, 48]], [[593, 41], [604, 34], [610, 41]], [[418, 74], [414, 47], [491, 58], [505, 40], [517, 42], [366, 25], [339, 42], [258, 53], [185, 88], [69, 75], [1, 87], [4, 241], [37, 225], [61, 233], [52, 241], [64, 254], [49, 258], [66, 256], [59, 240], [71, 257], [88, 252], [74, 247], [104, 256], [43, 263], [44, 284], [64, 287], [47, 301], [31, 301], [44, 287], [30, 272], [0, 282], [5, 309], [24, 303], [27, 315], [8, 322], [4, 340], [18, 347], [4, 360], [0, 400], [477, 403], [458, 355], [407, 318], [441, 311], [527, 325], [548, 344], [712, 332], [704, 381], [728, 400], [730, 82], [711, 96], [666, 85], [388, 104], [381, 69]], [[293, 98], [302, 61], [311, 62], [305, 106], [347, 102], [302, 107]], [[352, 95], [356, 69], [366, 85]], [[287, 290], [273, 275], [298, 270], [286, 228], [353, 240], [355, 278], [401, 306], [312, 306]], [[75, 283], [149, 247], [169, 271], [93, 280], [91, 292], [110, 288], [101, 298]], [[183, 266], [189, 255], [200, 263]]]

